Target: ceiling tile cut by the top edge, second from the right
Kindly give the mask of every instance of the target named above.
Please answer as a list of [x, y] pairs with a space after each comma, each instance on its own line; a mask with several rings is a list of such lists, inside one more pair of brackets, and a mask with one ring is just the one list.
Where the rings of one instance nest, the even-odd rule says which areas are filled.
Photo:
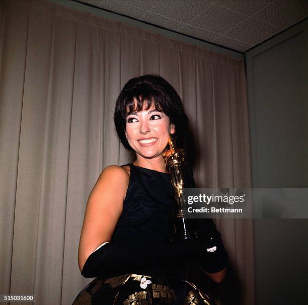
[[218, 0], [216, 4], [251, 16], [272, 2], [273, 0]]

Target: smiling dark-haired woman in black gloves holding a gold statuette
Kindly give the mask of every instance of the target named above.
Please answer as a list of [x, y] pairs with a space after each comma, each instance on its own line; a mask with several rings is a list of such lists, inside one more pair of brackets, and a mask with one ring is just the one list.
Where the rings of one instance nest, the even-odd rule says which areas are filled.
[[114, 119], [136, 160], [105, 168], [89, 196], [79, 267], [97, 279], [74, 304], [207, 303], [186, 271], [195, 261], [215, 282], [224, 278], [227, 255], [215, 225], [204, 219], [215, 252], [200, 240], [169, 242], [176, 202], [163, 156], [170, 135], [181, 138], [188, 122], [179, 95], [159, 75], [131, 79], [117, 99]]

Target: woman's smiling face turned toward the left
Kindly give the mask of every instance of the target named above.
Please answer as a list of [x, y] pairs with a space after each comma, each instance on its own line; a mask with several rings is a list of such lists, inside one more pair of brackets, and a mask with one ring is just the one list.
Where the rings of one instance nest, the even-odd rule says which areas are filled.
[[175, 133], [169, 117], [155, 109], [133, 112], [126, 117], [125, 135], [130, 147], [136, 154], [146, 159], [159, 157], [168, 144], [169, 134]]

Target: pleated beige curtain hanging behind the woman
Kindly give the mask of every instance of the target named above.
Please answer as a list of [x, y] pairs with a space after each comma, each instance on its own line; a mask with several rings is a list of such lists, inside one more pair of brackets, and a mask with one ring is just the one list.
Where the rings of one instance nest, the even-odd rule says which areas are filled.
[[[104, 167], [131, 160], [113, 109], [132, 77], [160, 73], [183, 98], [200, 187], [250, 186], [242, 60], [44, 1], [0, 10], [0, 294], [70, 304], [89, 282], [77, 262], [86, 202]], [[217, 222], [253, 304], [252, 221]]]

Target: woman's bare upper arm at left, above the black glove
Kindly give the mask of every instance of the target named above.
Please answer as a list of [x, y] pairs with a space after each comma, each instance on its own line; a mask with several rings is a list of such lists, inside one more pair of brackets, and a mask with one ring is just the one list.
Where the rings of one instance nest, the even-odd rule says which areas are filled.
[[123, 209], [129, 174], [111, 165], [98, 178], [87, 203], [82, 227], [78, 264], [82, 271], [88, 257], [105, 242], [110, 242]]

